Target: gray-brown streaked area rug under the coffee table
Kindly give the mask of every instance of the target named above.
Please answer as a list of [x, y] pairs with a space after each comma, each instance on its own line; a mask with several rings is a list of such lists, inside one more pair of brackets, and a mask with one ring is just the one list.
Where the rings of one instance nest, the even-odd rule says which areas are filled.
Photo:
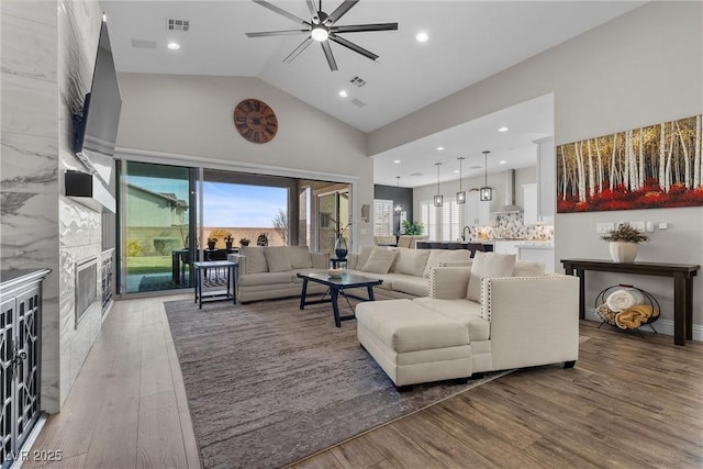
[[286, 466], [505, 373], [399, 393], [355, 321], [298, 305], [165, 303], [205, 468]]

